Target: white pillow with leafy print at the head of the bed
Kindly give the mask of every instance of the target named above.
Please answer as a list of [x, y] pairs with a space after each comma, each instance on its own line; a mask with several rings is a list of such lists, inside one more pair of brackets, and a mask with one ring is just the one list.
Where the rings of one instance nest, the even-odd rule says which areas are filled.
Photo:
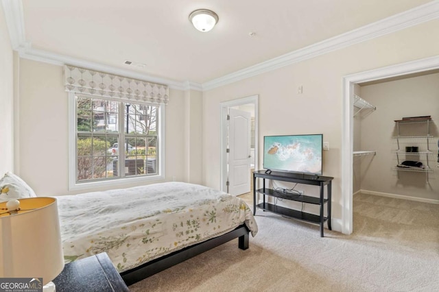
[[28, 186], [18, 175], [5, 173], [0, 180], [0, 202], [7, 202], [10, 199], [23, 199], [25, 197], [36, 197], [34, 190]]

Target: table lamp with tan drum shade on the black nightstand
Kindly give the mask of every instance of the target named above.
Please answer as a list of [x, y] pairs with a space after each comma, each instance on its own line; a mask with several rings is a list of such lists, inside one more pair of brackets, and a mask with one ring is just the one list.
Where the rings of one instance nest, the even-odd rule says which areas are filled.
[[64, 269], [56, 199], [0, 203], [0, 234], [0, 278], [43, 278], [43, 291], [55, 291]]

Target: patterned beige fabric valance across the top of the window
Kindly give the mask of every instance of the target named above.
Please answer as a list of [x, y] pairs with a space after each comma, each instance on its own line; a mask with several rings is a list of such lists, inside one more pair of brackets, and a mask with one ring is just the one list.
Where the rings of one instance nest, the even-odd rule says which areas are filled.
[[102, 73], [75, 66], [64, 66], [66, 91], [102, 97], [168, 104], [169, 89], [162, 84]]

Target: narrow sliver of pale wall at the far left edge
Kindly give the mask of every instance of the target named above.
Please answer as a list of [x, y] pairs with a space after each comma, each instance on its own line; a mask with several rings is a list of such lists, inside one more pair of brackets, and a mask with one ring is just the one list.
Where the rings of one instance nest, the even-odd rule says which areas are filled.
[[0, 178], [14, 171], [14, 53], [0, 5]]

